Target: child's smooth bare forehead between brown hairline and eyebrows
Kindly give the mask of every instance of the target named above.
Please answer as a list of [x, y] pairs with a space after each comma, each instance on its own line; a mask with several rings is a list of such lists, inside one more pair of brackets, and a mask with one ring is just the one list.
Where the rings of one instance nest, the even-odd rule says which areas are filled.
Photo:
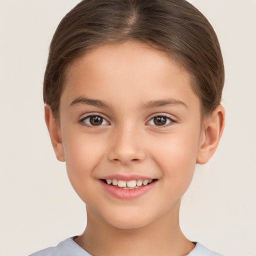
[[[190, 76], [167, 53], [128, 41], [99, 46], [76, 59], [68, 69], [61, 100], [77, 96], [121, 103], [129, 98], [196, 97]], [[102, 98], [100, 98], [102, 97]]]

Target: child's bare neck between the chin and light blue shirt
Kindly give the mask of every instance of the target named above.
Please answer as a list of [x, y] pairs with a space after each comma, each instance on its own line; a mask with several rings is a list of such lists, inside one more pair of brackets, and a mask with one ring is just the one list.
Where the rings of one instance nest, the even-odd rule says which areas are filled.
[[194, 244], [179, 227], [179, 204], [175, 214], [132, 229], [114, 227], [87, 207], [87, 225], [75, 242], [92, 255], [186, 255]]

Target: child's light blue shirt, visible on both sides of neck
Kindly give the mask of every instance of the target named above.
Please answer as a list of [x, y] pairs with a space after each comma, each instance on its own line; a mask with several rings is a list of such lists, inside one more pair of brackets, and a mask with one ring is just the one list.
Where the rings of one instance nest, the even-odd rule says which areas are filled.
[[[194, 242], [195, 247], [185, 256], [223, 256], [212, 250], [207, 249], [199, 242]], [[73, 237], [67, 238], [60, 242], [57, 246], [48, 247], [46, 249], [32, 253], [29, 256], [92, 256], [76, 242]]]

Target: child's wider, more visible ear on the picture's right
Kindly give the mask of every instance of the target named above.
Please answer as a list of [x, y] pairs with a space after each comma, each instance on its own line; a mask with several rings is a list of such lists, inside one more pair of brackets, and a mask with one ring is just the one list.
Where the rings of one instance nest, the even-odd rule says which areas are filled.
[[218, 105], [211, 115], [204, 119], [196, 163], [206, 163], [215, 152], [223, 132], [224, 120], [225, 110], [222, 105]]

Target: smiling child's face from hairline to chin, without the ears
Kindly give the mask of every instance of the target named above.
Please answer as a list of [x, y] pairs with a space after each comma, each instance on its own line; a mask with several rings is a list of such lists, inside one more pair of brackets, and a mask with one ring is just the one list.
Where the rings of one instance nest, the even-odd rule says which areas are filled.
[[141, 227], [178, 213], [201, 143], [199, 98], [165, 53], [138, 42], [100, 46], [69, 69], [59, 133], [90, 214]]

